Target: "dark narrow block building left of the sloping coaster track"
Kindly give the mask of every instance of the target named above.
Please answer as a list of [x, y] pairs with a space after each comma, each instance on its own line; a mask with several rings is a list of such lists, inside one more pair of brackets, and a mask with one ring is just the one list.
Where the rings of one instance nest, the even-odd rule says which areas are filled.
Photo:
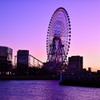
[[17, 51], [17, 72], [18, 74], [27, 74], [29, 67], [29, 50]]

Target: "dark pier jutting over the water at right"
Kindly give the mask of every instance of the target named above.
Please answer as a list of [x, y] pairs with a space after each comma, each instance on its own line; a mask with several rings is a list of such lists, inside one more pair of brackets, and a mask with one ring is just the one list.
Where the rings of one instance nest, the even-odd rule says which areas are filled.
[[61, 73], [60, 85], [64, 86], [81, 86], [81, 87], [98, 87], [100, 88], [99, 73]]

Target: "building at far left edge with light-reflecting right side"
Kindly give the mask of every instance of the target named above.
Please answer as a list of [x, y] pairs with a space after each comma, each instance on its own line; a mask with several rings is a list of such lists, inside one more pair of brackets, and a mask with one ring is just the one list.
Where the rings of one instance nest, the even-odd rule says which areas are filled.
[[0, 46], [0, 72], [5, 74], [12, 67], [13, 50], [6, 46]]

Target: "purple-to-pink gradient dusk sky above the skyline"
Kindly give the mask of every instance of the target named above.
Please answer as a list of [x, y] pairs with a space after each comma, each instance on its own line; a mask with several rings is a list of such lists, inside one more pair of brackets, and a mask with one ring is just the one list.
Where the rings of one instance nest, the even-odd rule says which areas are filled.
[[27, 49], [45, 62], [50, 18], [64, 7], [71, 20], [68, 56], [84, 57], [84, 68], [100, 70], [100, 0], [0, 0], [0, 46]]

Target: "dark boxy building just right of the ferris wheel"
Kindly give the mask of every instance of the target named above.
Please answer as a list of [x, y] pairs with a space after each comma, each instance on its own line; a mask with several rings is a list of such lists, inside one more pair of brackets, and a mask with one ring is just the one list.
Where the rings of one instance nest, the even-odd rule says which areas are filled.
[[68, 58], [68, 70], [75, 72], [83, 69], [83, 57], [71, 56]]

